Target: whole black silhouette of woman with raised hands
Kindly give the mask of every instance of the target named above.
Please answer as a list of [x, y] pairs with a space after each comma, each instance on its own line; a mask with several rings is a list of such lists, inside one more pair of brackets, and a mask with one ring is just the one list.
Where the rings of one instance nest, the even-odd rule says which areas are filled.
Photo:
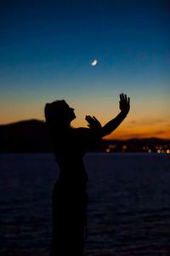
[[53, 192], [53, 234], [51, 256], [82, 256], [86, 231], [88, 176], [83, 155], [99, 147], [125, 119], [130, 99], [120, 95], [121, 112], [102, 127], [95, 117], [86, 116], [89, 128], [72, 128], [74, 108], [64, 101], [47, 103], [45, 118], [59, 165], [59, 178]]

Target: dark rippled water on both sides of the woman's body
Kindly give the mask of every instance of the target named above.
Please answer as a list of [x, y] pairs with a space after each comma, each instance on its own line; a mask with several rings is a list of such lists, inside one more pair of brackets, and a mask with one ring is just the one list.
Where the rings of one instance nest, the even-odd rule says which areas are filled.
[[[88, 154], [85, 163], [86, 255], [170, 255], [170, 155]], [[1, 256], [48, 256], [57, 176], [53, 154], [0, 154]]]

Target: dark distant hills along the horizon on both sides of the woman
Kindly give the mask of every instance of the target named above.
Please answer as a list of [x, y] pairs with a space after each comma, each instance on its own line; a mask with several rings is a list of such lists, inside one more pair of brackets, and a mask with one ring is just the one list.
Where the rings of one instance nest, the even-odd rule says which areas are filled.
[[[45, 122], [31, 119], [0, 125], [0, 152], [51, 152], [52, 147], [48, 137], [48, 127]], [[130, 151], [141, 151], [144, 146], [170, 145], [170, 140], [156, 137], [133, 138], [127, 141], [104, 140], [100, 150], [105, 151], [109, 145], [116, 144], [116, 150], [121, 150], [126, 144]]]

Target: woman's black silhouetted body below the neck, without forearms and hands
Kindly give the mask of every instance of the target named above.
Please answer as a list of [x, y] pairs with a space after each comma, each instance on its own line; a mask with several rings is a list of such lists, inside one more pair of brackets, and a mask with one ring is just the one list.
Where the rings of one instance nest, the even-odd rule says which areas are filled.
[[62, 137], [54, 136], [59, 178], [53, 193], [53, 256], [83, 255], [88, 203], [83, 155], [99, 142], [100, 137], [86, 128], [69, 129]]

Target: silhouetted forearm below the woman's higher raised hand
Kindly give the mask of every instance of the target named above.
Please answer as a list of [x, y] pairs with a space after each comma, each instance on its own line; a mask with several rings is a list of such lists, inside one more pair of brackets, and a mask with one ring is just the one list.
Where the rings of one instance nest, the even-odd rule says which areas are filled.
[[117, 114], [116, 118], [111, 119], [107, 124], [102, 127], [102, 137], [111, 134], [112, 131], [115, 131], [116, 128], [122, 123], [126, 118], [127, 113], [120, 112]]

